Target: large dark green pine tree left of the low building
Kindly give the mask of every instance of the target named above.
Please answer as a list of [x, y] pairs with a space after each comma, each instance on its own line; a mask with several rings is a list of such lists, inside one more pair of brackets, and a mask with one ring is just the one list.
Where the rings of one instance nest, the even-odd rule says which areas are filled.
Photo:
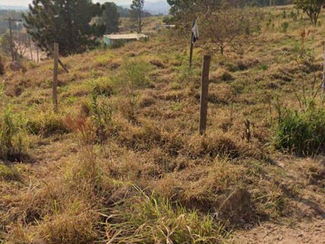
[[101, 5], [91, 0], [33, 0], [29, 12], [23, 15], [24, 26], [43, 51], [57, 42], [60, 53], [70, 55], [99, 44], [105, 26], [92, 19], [102, 12]]

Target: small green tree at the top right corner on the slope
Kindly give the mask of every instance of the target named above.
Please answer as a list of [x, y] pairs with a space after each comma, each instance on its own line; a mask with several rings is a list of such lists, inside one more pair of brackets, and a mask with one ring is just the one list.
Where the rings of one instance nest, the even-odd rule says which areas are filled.
[[311, 22], [316, 25], [320, 10], [325, 5], [325, 0], [294, 0], [294, 4], [298, 9], [302, 9]]

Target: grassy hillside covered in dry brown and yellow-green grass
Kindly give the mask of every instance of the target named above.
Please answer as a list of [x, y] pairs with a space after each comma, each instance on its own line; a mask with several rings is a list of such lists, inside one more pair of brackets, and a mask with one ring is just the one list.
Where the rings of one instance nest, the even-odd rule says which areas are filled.
[[[212, 53], [205, 136], [206, 51], [194, 49], [189, 70], [189, 37], [175, 30], [62, 58], [57, 112], [52, 60], [8, 71], [0, 243], [321, 243], [322, 148], [308, 157], [275, 145], [278, 112], [299, 110], [323, 68], [324, 13], [312, 27], [292, 8], [263, 9], [252, 41]], [[303, 29], [315, 58], [300, 65]]]

